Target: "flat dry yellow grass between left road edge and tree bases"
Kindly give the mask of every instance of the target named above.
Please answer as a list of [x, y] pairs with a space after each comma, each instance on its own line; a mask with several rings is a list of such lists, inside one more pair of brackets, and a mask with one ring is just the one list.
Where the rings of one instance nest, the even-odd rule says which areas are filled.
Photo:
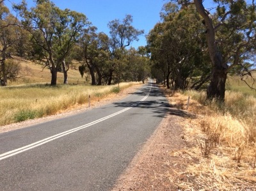
[[116, 94], [139, 82], [121, 83], [120, 86], [72, 86], [45, 84], [7, 86], [0, 91], [0, 125], [41, 118], [76, 105], [88, 105], [90, 100], [99, 100], [109, 94]]

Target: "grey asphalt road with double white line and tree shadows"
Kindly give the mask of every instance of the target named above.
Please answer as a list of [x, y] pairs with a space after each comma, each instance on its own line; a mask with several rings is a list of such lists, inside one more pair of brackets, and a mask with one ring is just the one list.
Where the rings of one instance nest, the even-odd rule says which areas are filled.
[[120, 102], [0, 134], [0, 190], [111, 190], [170, 106], [148, 83]]

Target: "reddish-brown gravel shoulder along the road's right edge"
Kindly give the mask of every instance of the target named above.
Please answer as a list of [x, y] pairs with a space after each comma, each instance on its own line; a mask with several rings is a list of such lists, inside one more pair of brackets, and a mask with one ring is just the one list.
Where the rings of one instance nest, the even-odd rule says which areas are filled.
[[186, 171], [187, 165], [193, 160], [180, 155], [180, 151], [189, 146], [184, 141], [180, 121], [182, 117], [171, 114], [163, 119], [112, 191], [179, 189], [175, 183], [186, 177], [182, 174], [177, 177], [176, 171]]

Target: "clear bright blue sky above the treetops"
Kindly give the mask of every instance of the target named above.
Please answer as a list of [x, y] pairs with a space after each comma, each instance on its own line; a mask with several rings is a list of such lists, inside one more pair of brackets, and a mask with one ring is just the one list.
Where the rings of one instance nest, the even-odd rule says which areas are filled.
[[[11, 3], [20, 3], [22, 0], [5, 0], [4, 4], [11, 9]], [[33, 0], [26, 0], [28, 6], [33, 6]], [[159, 13], [164, 0], [52, 0], [61, 9], [69, 8], [84, 13], [98, 32], [109, 34], [108, 22], [115, 19], [124, 19], [129, 14], [133, 17], [132, 26], [144, 30], [138, 42], [133, 42], [132, 47], [147, 44], [145, 34], [153, 29], [160, 21]]]

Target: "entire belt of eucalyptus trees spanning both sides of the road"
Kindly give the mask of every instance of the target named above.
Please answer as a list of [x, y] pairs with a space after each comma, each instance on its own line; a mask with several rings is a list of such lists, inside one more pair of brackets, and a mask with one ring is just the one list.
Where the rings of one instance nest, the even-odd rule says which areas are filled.
[[132, 42], [144, 31], [132, 26], [132, 15], [110, 21], [106, 34], [83, 13], [61, 10], [49, 0], [35, 1], [31, 8], [25, 0], [15, 5], [20, 20], [0, 1], [1, 85], [10, 79], [6, 59], [12, 52], [49, 68], [52, 85], [58, 72], [68, 83], [68, 68], [76, 60], [81, 76], [90, 73], [93, 85], [151, 75], [173, 89], [207, 85], [207, 98], [223, 102], [227, 74], [243, 79], [255, 70], [256, 11], [254, 1], [213, 3], [207, 10], [201, 0], [168, 1], [147, 45], [134, 49]]

